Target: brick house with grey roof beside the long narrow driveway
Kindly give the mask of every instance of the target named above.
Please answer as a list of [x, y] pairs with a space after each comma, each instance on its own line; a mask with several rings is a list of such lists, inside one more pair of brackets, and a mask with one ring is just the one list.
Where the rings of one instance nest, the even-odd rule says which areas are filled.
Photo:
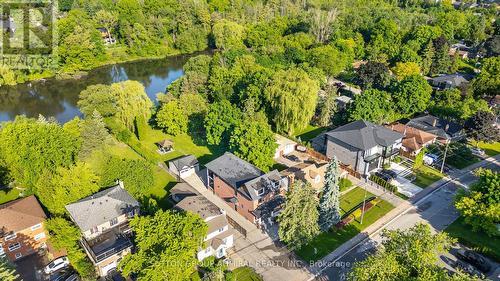
[[264, 173], [229, 152], [205, 166], [208, 188], [247, 220], [261, 226], [278, 215], [288, 181], [277, 170]]

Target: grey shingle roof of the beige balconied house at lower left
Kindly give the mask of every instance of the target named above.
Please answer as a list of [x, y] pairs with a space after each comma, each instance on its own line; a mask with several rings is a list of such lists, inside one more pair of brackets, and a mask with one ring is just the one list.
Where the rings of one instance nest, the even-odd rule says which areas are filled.
[[118, 184], [66, 205], [66, 210], [78, 227], [86, 231], [137, 207], [139, 202]]

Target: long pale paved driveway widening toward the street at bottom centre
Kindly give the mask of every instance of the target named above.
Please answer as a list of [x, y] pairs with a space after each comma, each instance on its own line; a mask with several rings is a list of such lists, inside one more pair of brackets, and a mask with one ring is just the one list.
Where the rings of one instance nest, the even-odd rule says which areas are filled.
[[185, 181], [217, 207], [225, 210], [228, 217], [247, 231], [246, 237], [235, 231], [234, 248], [229, 253], [231, 268], [249, 265], [266, 281], [308, 280], [314, 276], [286, 247], [276, 245], [267, 234], [208, 190], [198, 175], [191, 175]]

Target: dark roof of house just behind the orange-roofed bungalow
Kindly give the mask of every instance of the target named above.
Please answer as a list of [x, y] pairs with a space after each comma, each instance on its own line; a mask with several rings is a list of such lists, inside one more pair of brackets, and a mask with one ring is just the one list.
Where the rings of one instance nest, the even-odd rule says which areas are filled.
[[451, 135], [459, 133], [463, 129], [460, 124], [429, 114], [413, 118], [406, 125], [445, 139], [451, 138]]

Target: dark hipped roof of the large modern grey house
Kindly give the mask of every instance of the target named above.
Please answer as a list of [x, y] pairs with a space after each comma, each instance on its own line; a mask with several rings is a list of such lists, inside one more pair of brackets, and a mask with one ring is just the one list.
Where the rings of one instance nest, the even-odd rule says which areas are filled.
[[326, 134], [359, 150], [367, 150], [377, 145], [387, 147], [403, 138], [401, 133], [364, 120], [351, 122]]

